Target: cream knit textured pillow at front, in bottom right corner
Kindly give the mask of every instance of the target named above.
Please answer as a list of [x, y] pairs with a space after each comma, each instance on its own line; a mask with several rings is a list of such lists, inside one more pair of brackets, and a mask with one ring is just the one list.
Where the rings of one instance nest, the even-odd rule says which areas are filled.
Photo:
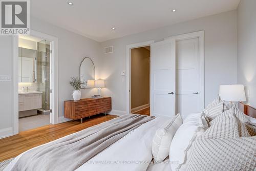
[[197, 139], [188, 155], [187, 170], [255, 170], [256, 136]]

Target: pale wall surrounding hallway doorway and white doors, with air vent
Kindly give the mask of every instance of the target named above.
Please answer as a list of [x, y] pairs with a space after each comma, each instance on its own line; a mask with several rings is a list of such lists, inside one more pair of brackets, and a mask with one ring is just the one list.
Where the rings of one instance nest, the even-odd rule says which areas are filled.
[[126, 45], [147, 40], [205, 31], [205, 104], [214, 99], [220, 84], [237, 83], [237, 11], [211, 15], [188, 22], [166, 26], [102, 42], [103, 47], [114, 46], [114, 53], [102, 54], [101, 78], [106, 79], [103, 94], [111, 96], [113, 109], [125, 111]]

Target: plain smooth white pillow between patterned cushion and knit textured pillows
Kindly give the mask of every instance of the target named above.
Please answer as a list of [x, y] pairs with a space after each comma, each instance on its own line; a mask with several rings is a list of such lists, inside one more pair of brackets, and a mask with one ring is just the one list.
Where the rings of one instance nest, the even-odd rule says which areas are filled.
[[190, 114], [177, 130], [169, 149], [172, 170], [185, 169], [186, 155], [196, 137], [208, 128], [204, 113]]

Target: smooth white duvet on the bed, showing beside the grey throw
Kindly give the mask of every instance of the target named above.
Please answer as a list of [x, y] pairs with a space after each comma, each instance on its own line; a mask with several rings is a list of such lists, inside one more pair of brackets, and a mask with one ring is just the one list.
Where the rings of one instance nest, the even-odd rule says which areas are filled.
[[[156, 130], [165, 121], [165, 117], [157, 117], [152, 121], [144, 123], [76, 170], [146, 170], [153, 158], [151, 151], [153, 137]], [[17, 156], [5, 168], [5, 171], [10, 170], [23, 154]], [[95, 164], [95, 162], [101, 164]], [[114, 164], [109, 162], [114, 162]], [[44, 167], [42, 166], [42, 168]]]

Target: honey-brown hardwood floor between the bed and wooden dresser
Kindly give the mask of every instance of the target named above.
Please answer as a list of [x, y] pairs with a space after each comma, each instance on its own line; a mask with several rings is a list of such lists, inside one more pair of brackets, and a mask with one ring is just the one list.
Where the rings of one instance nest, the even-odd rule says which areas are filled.
[[116, 117], [117, 116], [114, 115], [105, 116], [103, 114], [99, 114], [91, 116], [90, 120], [89, 118], [84, 118], [83, 123], [80, 123], [80, 120], [77, 120], [56, 125], [50, 124], [0, 139], [0, 161], [18, 156], [35, 146], [45, 144]]

